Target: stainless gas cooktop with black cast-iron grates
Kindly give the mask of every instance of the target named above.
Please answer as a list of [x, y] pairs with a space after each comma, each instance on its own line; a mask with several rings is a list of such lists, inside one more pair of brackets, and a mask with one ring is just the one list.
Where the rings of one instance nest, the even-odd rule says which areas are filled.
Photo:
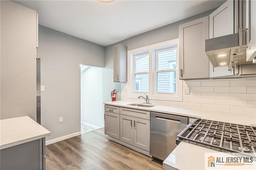
[[180, 141], [221, 152], [238, 152], [256, 158], [256, 127], [196, 119], [177, 136]]

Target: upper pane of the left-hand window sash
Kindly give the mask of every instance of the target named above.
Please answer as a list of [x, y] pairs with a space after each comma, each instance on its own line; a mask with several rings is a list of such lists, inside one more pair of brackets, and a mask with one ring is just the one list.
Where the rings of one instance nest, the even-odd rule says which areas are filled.
[[135, 73], [149, 71], [149, 55], [137, 55], [135, 57]]

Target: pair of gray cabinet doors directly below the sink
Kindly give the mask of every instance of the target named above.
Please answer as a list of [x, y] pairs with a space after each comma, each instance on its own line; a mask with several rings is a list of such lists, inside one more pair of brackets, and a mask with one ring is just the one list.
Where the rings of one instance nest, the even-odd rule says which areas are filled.
[[[133, 110], [135, 113], [139, 111]], [[120, 112], [120, 140], [149, 151], [150, 120], [122, 115]]]

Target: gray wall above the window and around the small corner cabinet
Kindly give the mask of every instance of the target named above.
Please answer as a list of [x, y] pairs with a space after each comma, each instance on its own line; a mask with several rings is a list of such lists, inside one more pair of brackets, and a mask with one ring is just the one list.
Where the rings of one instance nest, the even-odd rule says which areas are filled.
[[[127, 46], [127, 50], [136, 49], [140, 47], [144, 47], [147, 45], [152, 45], [155, 43], [165, 42], [168, 40], [173, 40], [179, 38], [179, 25], [184, 24], [186, 22], [196, 20], [198, 18], [202, 18], [204, 16], [209, 15], [215, 9], [209, 10], [207, 12], [203, 12], [201, 14], [192, 16], [190, 18], [186, 18], [184, 20], [180, 20], [178, 22], [174, 22], [172, 24], [157, 28], [155, 30], [151, 30], [137, 36], [128, 38], [126, 40], [122, 40], [120, 42], [114, 43], [112, 45], [108, 45], [105, 47], [105, 69], [106, 71], [102, 75], [103, 82], [106, 86], [103, 87], [103, 91], [112, 91], [113, 89], [117, 89], [117, 100], [120, 100], [121, 89], [124, 87], [125, 83], [114, 83], [113, 82], [113, 56], [114, 50], [113, 46], [121, 43], [122, 45]], [[110, 95], [103, 94], [103, 102], [111, 101]]]

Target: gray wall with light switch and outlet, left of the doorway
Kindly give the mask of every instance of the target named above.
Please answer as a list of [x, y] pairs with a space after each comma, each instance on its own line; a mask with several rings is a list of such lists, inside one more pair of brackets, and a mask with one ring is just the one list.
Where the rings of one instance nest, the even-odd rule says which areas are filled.
[[[51, 140], [80, 132], [80, 64], [104, 67], [104, 47], [39, 26], [42, 126]], [[63, 123], [59, 123], [63, 117]]]

